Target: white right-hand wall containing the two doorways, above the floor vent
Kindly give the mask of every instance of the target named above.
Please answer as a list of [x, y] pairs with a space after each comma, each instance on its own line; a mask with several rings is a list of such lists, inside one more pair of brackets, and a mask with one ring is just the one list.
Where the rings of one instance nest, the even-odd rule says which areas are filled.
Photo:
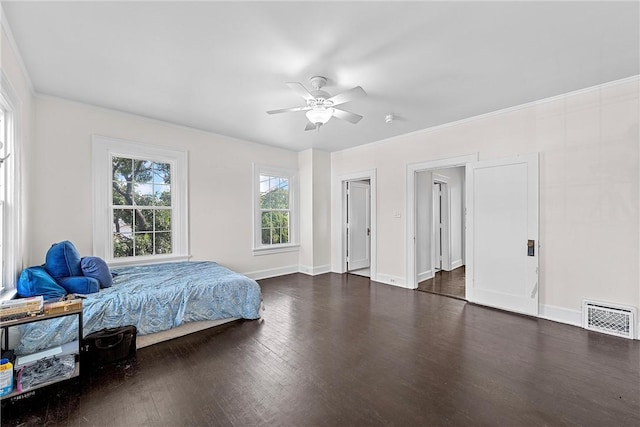
[[543, 315], [575, 316], [583, 298], [640, 306], [639, 86], [626, 79], [332, 153], [332, 176], [377, 169], [378, 276], [406, 283], [407, 164], [539, 152]]

